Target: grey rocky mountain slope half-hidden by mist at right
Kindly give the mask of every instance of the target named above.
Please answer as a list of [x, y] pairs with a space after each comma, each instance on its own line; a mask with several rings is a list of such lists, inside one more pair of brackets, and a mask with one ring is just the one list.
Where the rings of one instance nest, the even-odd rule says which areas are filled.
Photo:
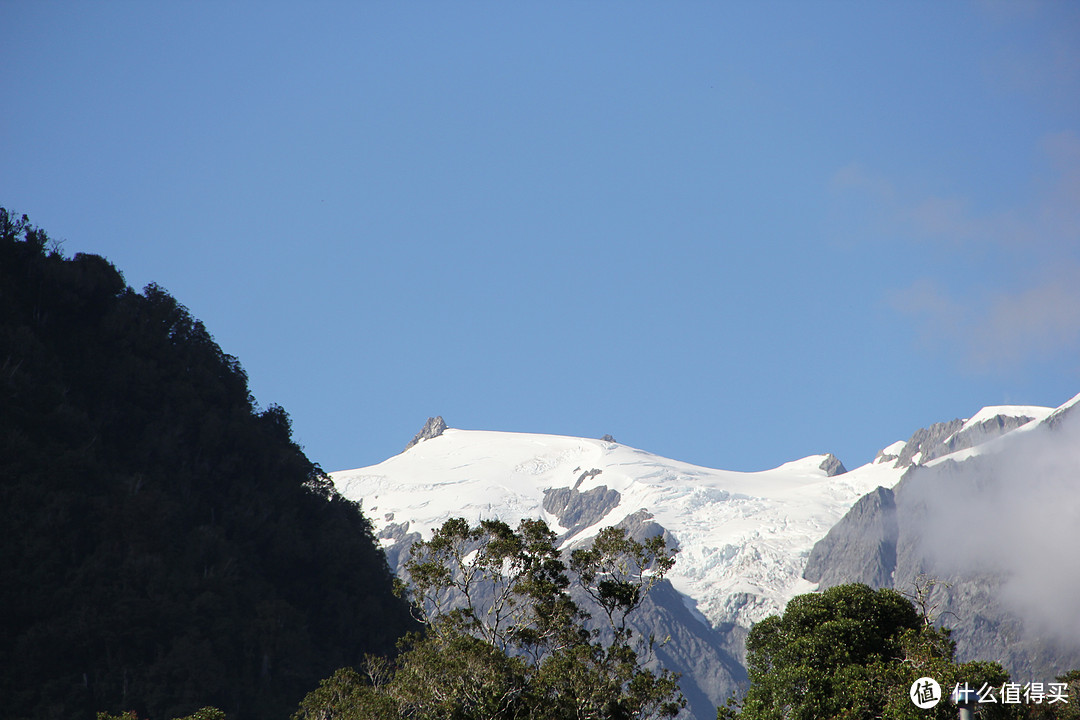
[[[1059, 586], [1035, 573], [1051, 554], [1071, 562], [1065, 558], [1076, 533], [1054, 527], [1050, 508], [1047, 525], [1027, 516], [1029, 503], [1054, 498], [1077, 506], [1065, 492], [1071, 487], [1075, 498], [1080, 489], [1080, 421], [1066, 415], [1002, 438], [993, 452], [913, 466], [892, 490], [863, 497], [814, 545], [804, 576], [821, 589], [850, 582], [909, 595], [929, 588], [928, 610], [954, 629], [958, 658], [1000, 662], [1014, 679], [1049, 681], [1080, 667], [1080, 613], [1065, 597], [1077, 573], [1063, 572]], [[943, 423], [909, 445], [932, 458], [950, 443], [972, 447], [964, 444], [985, 443], [1017, 423], [991, 418], [962, 433]]]

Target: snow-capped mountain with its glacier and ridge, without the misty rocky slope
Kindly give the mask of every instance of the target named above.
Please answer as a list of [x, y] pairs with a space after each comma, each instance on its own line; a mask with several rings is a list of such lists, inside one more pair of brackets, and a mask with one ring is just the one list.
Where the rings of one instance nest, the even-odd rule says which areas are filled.
[[[804, 579], [811, 549], [861, 498], [892, 488], [913, 466], [977, 454], [1053, 412], [988, 407], [919, 430], [851, 471], [820, 454], [755, 473], [701, 467], [609, 437], [457, 430], [438, 418], [401, 454], [332, 477], [345, 497], [362, 502], [392, 567], [407, 557], [402, 552], [414, 540], [429, 538], [450, 517], [499, 518], [512, 526], [539, 517], [567, 548], [604, 527], [648, 521], [679, 548], [669, 579], [678, 598], [672, 602], [685, 607], [669, 608], [669, 614], [681, 611], [696, 619], [686, 622], [723, 635], [704, 642], [718, 657], [730, 652], [725, 657], [741, 661], [740, 644], [753, 623], [816, 588]], [[676, 662], [692, 663], [691, 655]], [[725, 657], [716, 663], [730, 664]], [[732, 683], [745, 679], [731, 673], [723, 682], [710, 680], [705, 676], [715, 668], [674, 669], [684, 670], [694, 717], [715, 717], [707, 706], [721, 704]], [[688, 683], [697, 687], [688, 690]]]

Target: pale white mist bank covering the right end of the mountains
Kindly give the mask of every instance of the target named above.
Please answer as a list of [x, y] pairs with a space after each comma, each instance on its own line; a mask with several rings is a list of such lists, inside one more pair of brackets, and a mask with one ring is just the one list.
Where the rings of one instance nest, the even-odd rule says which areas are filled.
[[[927, 507], [918, 532], [936, 567], [1000, 576], [1001, 601], [1026, 626], [1080, 640], [1078, 415], [947, 460], [906, 492]], [[950, 481], [934, 481], [942, 474]]]

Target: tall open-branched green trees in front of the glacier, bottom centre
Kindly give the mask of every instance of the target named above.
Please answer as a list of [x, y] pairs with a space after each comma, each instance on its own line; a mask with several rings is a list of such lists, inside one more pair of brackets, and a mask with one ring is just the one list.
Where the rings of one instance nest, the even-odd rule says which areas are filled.
[[[497, 520], [448, 520], [413, 546], [406, 566], [426, 633], [403, 643], [393, 666], [369, 658], [367, 680], [339, 671], [294, 717], [673, 717], [685, 706], [677, 677], [643, 667], [639, 651], [650, 641], [625, 623], [673, 563], [662, 539], [639, 543], [617, 528], [573, 553], [567, 568], [540, 520], [523, 520], [516, 531]], [[606, 625], [590, 629], [571, 589], [593, 600]]]

